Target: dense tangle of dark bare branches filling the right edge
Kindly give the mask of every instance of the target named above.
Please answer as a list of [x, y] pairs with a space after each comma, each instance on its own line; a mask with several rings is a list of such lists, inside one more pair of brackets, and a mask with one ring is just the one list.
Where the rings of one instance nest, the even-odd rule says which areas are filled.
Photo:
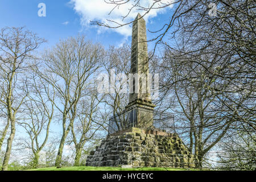
[[[214, 93], [214, 110], [220, 111], [216, 119], [233, 122], [226, 135], [247, 133], [247, 138], [255, 142], [255, 5], [253, 1], [214, 3], [216, 15], [209, 16], [207, 4], [200, 2], [193, 11], [180, 17], [177, 44], [164, 43], [172, 52], [167, 57], [179, 60], [181, 68], [190, 64], [201, 68], [212, 80], [208, 89]], [[198, 78], [182, 77], [174, 82], [170, 77], [165, 86], [171, 88], [177, 82]], [[223, 138], [221, 143], [224, 141]], [[246, 145], [245, 140], [241, 142]], [[236, 160], [235, 155], [230, 156]]]

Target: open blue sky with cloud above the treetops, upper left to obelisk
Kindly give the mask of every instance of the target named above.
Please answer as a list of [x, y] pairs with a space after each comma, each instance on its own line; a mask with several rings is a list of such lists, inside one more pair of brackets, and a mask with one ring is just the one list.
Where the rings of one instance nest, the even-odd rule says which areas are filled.
[[[46, 17], [38, 16], [39, 3], [46, 4]], [[94, 42], [102, 43], [105, 47], [110, 45], [118, 47], [124, 42], [131, 43], [129, 26], [122, 30], [121, 28], [110, 30], [110, 28], [93, 26], [88, 22], [95, 20], [96, 17], [102, 21], [107, 18], [120, 18], [122, 11], [127, 7], [128, 5], [109, 16], [109, 10], [103, 0], [1, 0], [0, 28], [26, 26], [28, 30], [36, 32], [48, 41], [44, 47], [53, 46], [59, 39], [79, 33], [85, 34]], [[171, 9], [153, 12], [146, 18], [147, 28], [152, 31], [160, 28], [170, 17], [170, 12]], [[133, 19], [137, 13], [137, 11], [133, 12], [127, 21]], [[152, 38], [149, 32], [147, 35], [148, 39]], [[152, 44], [149, 46], [151, 47]]]

